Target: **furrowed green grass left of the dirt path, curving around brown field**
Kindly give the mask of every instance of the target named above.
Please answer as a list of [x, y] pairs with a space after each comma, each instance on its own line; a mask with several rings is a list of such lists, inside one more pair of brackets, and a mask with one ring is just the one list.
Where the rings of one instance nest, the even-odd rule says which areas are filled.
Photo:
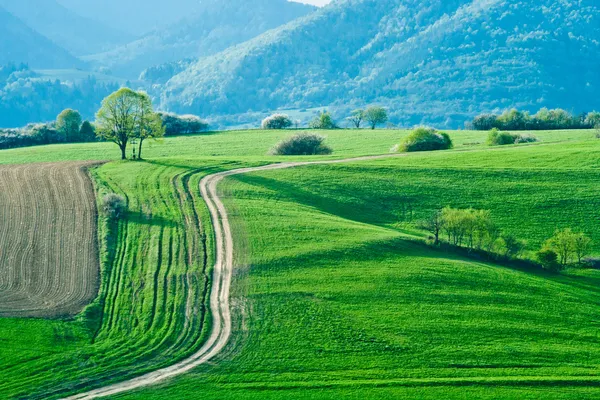
[[209, 320], [212, 242], [198, 183], [220, 167], [226, 164], [182, 168], [163, 160], [94, 171], [100, 196], [114, 191], [129, 201], [117, 227], [102, 224], [109, 234], [98, 299], [74, 320], [0, 320], [9, 349], [2, 352], [1, 398], [61, 397], [170, 365], [199, 348]]

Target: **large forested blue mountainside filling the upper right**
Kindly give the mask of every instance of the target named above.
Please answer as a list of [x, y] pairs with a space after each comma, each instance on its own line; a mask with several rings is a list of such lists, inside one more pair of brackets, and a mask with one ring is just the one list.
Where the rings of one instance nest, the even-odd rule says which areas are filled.
[[459, 126], [518, 106], [600, 108], [596, 0], [340, 0], [201, 58], [162, 107], [204, 116], [388, 107], [392, 121]]

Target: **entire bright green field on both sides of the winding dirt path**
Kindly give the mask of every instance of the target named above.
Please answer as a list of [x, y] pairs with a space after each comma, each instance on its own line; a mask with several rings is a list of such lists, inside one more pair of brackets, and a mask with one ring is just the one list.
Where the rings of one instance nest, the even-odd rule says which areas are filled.
[[[326, 133], [331, 157], [385, 154], [405, 134]], [[103, 307], [74, 321], [0, 320], [0, 397], [60, 397], [197, 349], [212, 265], [198, 182], [281, 160], [265, 154], [286, 135], [171, 138], [148, 149], [147, 162], [97, 169], [99, 189], [130, 204], [103, 255]], [[432, 210], [474, 207], [491, 210], [530, 252], [571, 227], [600, 253], [600, 141], [590, 131], [536, 135], [540, 144], [490, 149], [485, 133], [454, 132], [452, 151], [227, 178], [239, 265], [231, 346], [186, 376], [115, 398], [600, 396], [600, 272], [519, 270], [417, 241], [414, 223]], [[105, 159], [115, 150], [17, 149], [0, 152], [0, 163]], [[197, 312], [185, 322], [189, 299]]]

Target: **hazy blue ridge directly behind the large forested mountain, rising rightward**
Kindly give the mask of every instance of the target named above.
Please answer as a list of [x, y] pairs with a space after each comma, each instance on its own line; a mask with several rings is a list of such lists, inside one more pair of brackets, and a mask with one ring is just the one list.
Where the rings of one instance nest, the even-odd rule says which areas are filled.
[[87, 61], [136, 77], [155, 65], [203, 57], [252, 39], [315, 10], [286, 0], [204, 0], [195, 13]]

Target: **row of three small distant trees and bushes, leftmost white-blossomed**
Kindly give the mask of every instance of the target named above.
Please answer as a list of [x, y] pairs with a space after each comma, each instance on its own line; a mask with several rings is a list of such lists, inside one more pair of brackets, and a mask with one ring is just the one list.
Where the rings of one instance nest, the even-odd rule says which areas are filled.
[[[377, 128], [378, 125], [385, 124], [388, 121], [388, 113], [383, 107], [369, 107], [366, 110], [354, 110], [352, 114], [346, 118], [356, 129], [360, 129], [363, 123], [367, 123], [371, 129]], [[288, 129], [292, 126], [298, 128], [300, 121], [292, 121], [287, 114], [273, 114], [262, 121], [262, 129]], [[319, 112], [308, 127], [311, 129], [338, 129], [339, 126], [333, 119], [333, 116], [327, 112]]]

